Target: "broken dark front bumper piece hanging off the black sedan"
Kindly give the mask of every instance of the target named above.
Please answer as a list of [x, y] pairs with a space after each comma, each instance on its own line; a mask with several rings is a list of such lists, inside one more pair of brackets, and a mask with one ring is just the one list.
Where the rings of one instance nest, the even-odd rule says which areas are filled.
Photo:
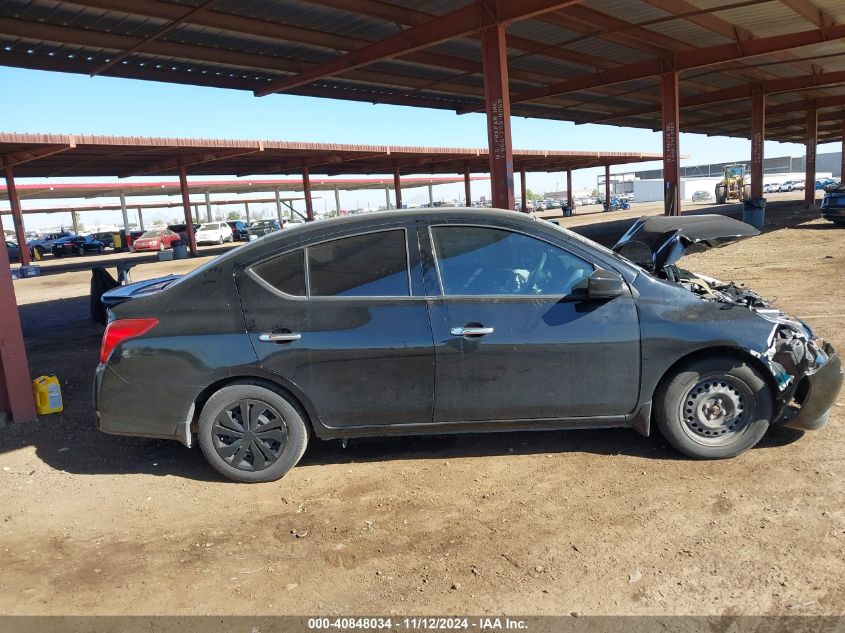
[[805, 376], [799, 384], [800, 408], [786, 407], [781, 426], [815, 431], [827, 424], [845, 376], [839, 355], [829, 344], [825, 346], [825, 352], [829, 356], [827, 362], [814, 374]]

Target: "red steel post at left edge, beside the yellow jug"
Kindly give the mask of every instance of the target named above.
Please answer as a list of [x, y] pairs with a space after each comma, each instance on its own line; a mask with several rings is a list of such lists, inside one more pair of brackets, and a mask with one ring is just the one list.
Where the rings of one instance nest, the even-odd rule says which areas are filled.
[[[22, 244], [21, 254], [27, 250]], [[35, 398], [9, 268], [9, 252], [0, 248], [0, 411], [13, 422], [29, 422], [37, 418]]]

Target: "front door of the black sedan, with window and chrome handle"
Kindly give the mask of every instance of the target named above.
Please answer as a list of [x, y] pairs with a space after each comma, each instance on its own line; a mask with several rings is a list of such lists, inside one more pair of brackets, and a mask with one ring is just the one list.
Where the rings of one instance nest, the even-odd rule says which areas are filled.
[[420, 236], [437, 363], [435, 422], [594, 424], [635, 409], [636, 306], [630, 294], [586, 296], [597, 265], [583, 246], [484, 224], [421, 225]]

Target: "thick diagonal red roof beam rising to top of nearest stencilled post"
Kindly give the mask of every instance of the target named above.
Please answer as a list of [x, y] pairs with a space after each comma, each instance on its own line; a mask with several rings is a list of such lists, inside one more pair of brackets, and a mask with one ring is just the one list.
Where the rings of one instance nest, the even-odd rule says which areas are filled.
[[580, 1], [520, 0], [516, 2], [510, 0], [500, 3], [498, 16], [492, 15], [489, 8], [482, 3], [473, 2], [445, 15], [412, 26], [396, 35], [362, 46], [346, 55], [322, 64], [316, 64], [292, 77], [274, 81], [269, 86], [256, 90], [255, 95], [263, 97], [275, 92], [297, 88], [345, 71], [430, 48], [441, 42], [466, 37], [480, 31], [485, 26], [530, 18]]

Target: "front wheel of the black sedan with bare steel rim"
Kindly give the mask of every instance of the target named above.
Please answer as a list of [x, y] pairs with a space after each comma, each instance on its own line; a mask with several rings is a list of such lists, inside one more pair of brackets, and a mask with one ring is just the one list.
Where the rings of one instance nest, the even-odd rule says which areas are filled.
[[698, 459], [724, 459], [751, 448], [765, 435], [774, 412], [772, 390], [739, 358], [693, 361], [663, 380], [654, 397], [654, 419], [677, 450]]

